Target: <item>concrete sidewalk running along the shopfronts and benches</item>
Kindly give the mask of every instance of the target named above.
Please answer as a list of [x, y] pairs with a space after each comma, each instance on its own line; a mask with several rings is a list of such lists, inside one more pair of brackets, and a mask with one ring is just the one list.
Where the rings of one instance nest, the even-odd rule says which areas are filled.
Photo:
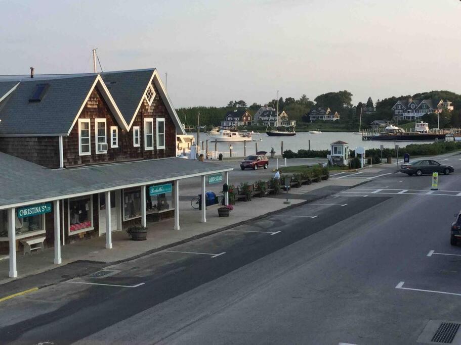
[[[288, 193], [291, 205], [325, 198], [343, 189], [367, 182], [364, 179], [331, 179]], [[112, 233], [113, 248], [105, 249], [105, 236], [66, 244], [61, 247], [62, 264], [53, 264], [54, 249], [49, 248], [32, 255], [17, 254], [19, 277], [8, 278], [9, 260], [0, 260], [0, 300], [6, 295], [34, 287], [48, 286], [73, 277], [87, 275], [121, 261], [174, 247], [180, 243], [207, 236], [242, 222], [287, 208], [283, 204], [286, 193], [266, 198], [253, 198], [250, 202], [237, 202], [230, 217], [218, 217], [217, 206], [206, 211], [206, 223], [200, 223], [200, 211], [193, 210], [190, 201], [180, 202], [180, 230], [174, 230], [174, 219], [148, 224], [146, 241], [133, 241], [124, 231]]]

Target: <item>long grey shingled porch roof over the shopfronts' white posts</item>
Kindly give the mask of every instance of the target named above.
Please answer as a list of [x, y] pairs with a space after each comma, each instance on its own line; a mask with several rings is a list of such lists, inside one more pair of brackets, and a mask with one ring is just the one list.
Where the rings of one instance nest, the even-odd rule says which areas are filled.
[[0, 153], [0, 210], [231, 170], [220, 164], [176, 157], [49, 169]]

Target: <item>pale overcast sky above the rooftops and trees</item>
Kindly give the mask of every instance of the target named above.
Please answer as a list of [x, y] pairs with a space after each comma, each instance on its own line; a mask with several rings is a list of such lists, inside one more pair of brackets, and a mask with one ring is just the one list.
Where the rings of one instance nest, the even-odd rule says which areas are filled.
[[0, 0], [0, 74], [156, 67], [175, 107], [461, 93], [457, 0]]

